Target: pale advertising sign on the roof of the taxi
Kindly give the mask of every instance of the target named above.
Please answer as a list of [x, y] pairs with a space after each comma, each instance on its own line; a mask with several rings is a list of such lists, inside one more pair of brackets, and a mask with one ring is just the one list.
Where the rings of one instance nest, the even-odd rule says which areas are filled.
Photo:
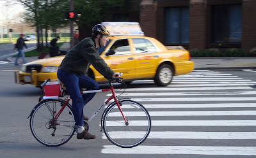
[[138, 22], [102, 22], [101, 24], [109, 29], [109, 36], [144, 36]]

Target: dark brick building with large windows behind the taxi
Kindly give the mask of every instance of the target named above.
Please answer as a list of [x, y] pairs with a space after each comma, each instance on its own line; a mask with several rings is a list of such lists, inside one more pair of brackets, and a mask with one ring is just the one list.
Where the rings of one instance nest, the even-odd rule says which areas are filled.
[[255, 0], [141, 0], [145, 36], [187, 49], [256, 47]]

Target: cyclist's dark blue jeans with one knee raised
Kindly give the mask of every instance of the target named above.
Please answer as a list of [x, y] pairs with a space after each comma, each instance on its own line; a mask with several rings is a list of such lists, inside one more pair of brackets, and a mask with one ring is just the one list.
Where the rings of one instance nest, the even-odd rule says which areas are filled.
[[99, 89], [99, 84], [92, 78], [86, 75], [77, 76], [72, 73], [66, 73], [62, 69], [57, 72], [59, 80], [65, 85], [70, 98], [72, 99], [72, 111], [74, 113], [76, 127], [84, 125], [84, 105], [87, 104], [94, 96], [95, 93], [82, 95], [80, 87], [86, 90]]

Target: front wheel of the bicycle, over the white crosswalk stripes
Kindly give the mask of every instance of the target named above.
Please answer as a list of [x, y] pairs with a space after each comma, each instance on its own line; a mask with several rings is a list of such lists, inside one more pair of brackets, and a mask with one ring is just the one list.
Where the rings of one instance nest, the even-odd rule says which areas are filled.
[[131, 100], [120, 101], [122, 113], [116, 104], [106, 110], [103, 129], [111, 143], [122, 148], [131, 148], [140, 145], [150, 133], [151, 119], [148, 111], [140, 103]]

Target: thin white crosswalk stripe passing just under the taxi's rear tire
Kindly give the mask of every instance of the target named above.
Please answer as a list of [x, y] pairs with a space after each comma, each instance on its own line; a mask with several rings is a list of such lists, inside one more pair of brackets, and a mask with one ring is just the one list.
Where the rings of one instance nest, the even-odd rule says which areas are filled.
[[[239, 84], [241, 85], [241, 84]], [[155, 87], [155, 88], [134, 88], [134, 89], [125, 89], [125, 92], [131, 92], [131, 91], [173, 91], [173, 90], [236, 90], [236, 89], [253, 89], [252, 87], [244, 86], [244, 87], [172, 87], [173, 85], [168, 85], [168, 87]], [[186, 85], [190, 86], [190, 85]], [[209, 85], [208, 85], [209, 86]], [[116, 89], [115, 91], [123, 91]]]

